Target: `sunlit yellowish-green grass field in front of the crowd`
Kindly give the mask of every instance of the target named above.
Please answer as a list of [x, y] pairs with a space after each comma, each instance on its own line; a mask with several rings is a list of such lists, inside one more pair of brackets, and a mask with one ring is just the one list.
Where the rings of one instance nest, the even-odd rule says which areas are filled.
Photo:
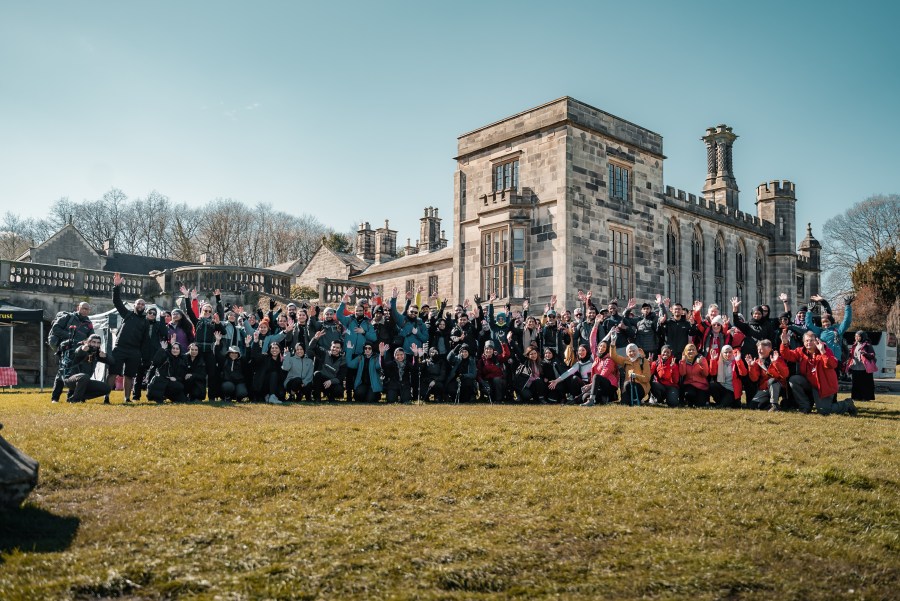
[[0, 599], [897, 599], [900, 396], [860, 416], [51, 405]]

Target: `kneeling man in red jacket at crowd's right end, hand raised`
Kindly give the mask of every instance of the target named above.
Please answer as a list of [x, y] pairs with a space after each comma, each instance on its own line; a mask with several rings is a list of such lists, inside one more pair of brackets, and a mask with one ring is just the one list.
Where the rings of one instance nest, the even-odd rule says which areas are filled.
[[790, 333], [782, 330], [781, 356], [797, 364], [797, 375], [788, 379], [788, 386], [794, 393], [800, 411], [809, 413], [810, 399], [820, 415], [829, 413], [849, 413], [856, 415], [856, 405], [852, 400], [836, 401], [838, 392], [838, 360], [824, 342], [811, 331], [803, 335], [803, 348], [791, 350]]

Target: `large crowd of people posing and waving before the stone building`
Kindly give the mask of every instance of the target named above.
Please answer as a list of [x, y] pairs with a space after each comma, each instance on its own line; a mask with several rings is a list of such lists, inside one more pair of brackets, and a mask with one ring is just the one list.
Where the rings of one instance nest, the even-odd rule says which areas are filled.
[[[93, 333], [86, 303], [54, 323], [61, 360], [52, 401], [68, 389], [71, 402], [109, 402], [117, 376], [126, 403], [146, 389], [156, 402], [480, 398], [855, 415], [854, 400], [874, 399], [875, 354], [864, 332], [839, 361], [852, 296], [844, 299], [840, 324], [821, 296], [792, 314], [782, 294], [779, 317], [761, 305], [748, 319], [737, 298], [728, 317], [715, 304], [704, 312], [701, 301], [685, 308], [661, 295], [655, 306], [638, 308], [631, 299], [624, 309], [616, 300], [600, 308], [590, 291], [579, 291], [573, 309], [557, 310], [553, 297], [534, 315], [528, 301], [521, 311], [495, 311], [493, 295], [448, 311], [437, 294], [421, 299], [422, 290], [398, 306], [396, 288], [385, 300], [374, 287], [371, 300], [352, 306], [345, 295], [336, 308], [270, 301], [268, 311], [223, 305], [219, 290], [214, 302], [201, 302], [196, 290], [182, 287], [178, 306], [161, 314], [141, 299], [128, 308], [121, 283], [116, 274], [119, 325], [109, 353]], [[106, 382], [92, 379], [98, 363], [109, 368]], [[837, 400], [839, 369], [852, 377], [847, 400]]]

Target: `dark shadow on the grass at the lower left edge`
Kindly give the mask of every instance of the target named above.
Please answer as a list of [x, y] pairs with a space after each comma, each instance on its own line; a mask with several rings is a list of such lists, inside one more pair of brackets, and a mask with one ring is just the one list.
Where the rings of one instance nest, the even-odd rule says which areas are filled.
[[[65, 551], [81, 519], [59, 516], [33, 505], [0, 512], [0, 553], [15, 549], [32, 553]], [[0, 559], [0, 563], [3, 560]]]

